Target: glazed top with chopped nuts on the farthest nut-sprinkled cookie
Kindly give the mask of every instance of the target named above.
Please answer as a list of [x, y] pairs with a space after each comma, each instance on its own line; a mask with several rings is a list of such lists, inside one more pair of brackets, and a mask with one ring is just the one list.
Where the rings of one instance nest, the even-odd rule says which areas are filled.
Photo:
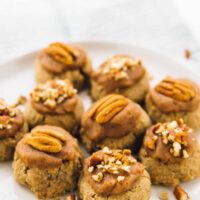
[[130, 56], [118, 55], [106, 60], [94, 73], [93, 78], [105, 86], [107, 92], [129, 87], [137, 83], [145, 74], [142, 62]]

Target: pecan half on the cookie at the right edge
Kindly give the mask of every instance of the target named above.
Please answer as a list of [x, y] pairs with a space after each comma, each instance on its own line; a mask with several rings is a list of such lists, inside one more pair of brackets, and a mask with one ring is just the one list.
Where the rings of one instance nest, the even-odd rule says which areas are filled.
[[155, 87], [155, 90], [178, 101], [187, 102], [191, 101], [195, 97], [195, 91], [189, 83], [169, 77], [162, 80]]

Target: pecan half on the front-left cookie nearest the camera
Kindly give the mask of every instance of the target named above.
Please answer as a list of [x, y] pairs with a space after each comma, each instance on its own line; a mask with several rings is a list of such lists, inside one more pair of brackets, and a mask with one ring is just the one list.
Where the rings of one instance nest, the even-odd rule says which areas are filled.
[[36, 127], [26, 139], [26, 143], [33, 148], [47, 152], [58, 153], [66, 141], [66, 136], [57, 130], [46, 127]]

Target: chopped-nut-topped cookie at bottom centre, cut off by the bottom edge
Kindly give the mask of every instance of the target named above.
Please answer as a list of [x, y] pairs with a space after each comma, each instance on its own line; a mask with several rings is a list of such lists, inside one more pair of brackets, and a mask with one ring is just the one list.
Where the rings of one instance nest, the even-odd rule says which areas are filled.
[[85, 160], [78, 188], [81, 200], [149, 200], [151, 181], [130, 150], [105, 147]]

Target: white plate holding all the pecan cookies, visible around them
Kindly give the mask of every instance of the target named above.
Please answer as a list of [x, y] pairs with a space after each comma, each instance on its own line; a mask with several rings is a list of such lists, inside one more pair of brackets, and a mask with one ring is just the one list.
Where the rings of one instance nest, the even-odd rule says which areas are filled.
[[[191, 73], [182, 64], [174, 60], [152, 52], [147, 49], [139, 48], [128, 44], [104, 43], [104, 42], [80, 42], [93, 61], [93, 66], [97, 67], [102, 61], [114, 54], [129, 54], [141, 58], [144, 65], [152, 75], [151, 84], [157, 83], [166, 75], [175, 77], [187, 77], [200, 83], [200, 77]], [[36, 52], [19, 57], [8, 63], [0, 65], [0, 97], [8, 102], [14, 103], [20, 95], [28, 95], [35, 85], [34, 77], [34, 59]], [[82, 93], [85, 109], [90, 105], [90, 99], [86, 93]], [[25, 187], [15, 183], [11, 163], [0, 163], [0, 199], [2, 200], [32, 200], [35, 196]], [[200, 197], [200, 178], [191, 182], [182, 184], [192, 200], [198, 200]], [[172, 194], [172, 188], [153, 186], [152, 198], [159, 199], [160, 191], [168, 191], [170, 199], [175, 199]]]

